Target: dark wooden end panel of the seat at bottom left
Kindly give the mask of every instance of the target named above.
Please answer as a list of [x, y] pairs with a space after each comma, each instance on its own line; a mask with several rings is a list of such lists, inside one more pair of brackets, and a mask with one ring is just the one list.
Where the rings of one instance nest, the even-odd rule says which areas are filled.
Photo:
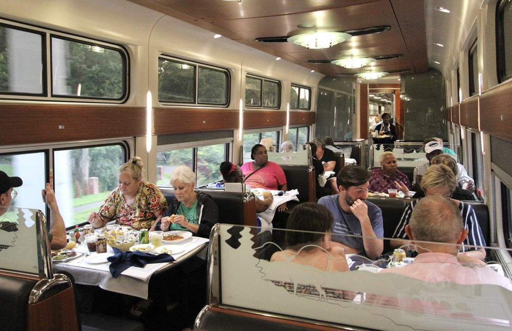
[[27, 305], [27, 330], [78, 331], [73, 288]]

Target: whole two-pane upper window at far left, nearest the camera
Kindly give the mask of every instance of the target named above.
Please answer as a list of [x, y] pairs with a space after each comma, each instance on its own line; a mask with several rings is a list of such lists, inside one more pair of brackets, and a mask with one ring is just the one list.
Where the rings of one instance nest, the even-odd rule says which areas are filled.
[[0, 19], [0, 94], [5, 98], [123, 102], [127, 59], [117, 45]]

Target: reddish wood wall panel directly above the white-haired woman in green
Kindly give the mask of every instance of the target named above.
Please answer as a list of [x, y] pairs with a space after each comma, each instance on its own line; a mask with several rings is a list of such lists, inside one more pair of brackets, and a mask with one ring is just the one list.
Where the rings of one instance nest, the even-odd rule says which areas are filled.
[[183, 134], [232, 130], [239, 127], [239, 112], [228, 109], [154, 109], [154, 134]]

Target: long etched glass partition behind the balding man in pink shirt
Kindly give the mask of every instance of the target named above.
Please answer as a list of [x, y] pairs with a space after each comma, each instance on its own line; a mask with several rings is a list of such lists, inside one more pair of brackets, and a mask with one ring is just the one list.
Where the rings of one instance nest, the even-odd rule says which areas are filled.
[[[479, 265], [463, 254], [457, 259], [461, 245], [415, 241], [402, 246], [407, 256], [419, 252], [415, 258], [391, 254], [372, 260], [364, 251], [344, 256], [339, 249], [327, 250], [334, 245], [325, 233], [274, 228], [277, 241], [319, 238], [288, 248], [264, 242], [256, 230], [220, 224], [212, 231], [211, 304], [382, 330], [512, 326], [512, 283], [505, 277], [512, 266], [496, 262], [503, 261], [509, 250], [486, 247], [487, 265]], [[389, 247], [387, 239], [332, 239]], [[471, 248], [476, 249], [464, 246]]]

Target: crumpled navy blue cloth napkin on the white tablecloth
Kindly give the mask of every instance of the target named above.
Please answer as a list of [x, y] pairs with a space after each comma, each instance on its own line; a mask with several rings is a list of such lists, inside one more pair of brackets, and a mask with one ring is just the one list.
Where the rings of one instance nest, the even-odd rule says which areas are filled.
[[130, 267], [139, 267], [144, 268], [147, 263], [163, 263], [163, 262], [173, 262], [175, 261], [174, 257], [169, 254], [147, 254], [141, 251], [135, 252], [124, 252], [115, 247], [112, 248], [114, 250], [114, 255], [106, 258], [110, 263], [110, 273], [112, 277], [117, 278], [119, 275]]

